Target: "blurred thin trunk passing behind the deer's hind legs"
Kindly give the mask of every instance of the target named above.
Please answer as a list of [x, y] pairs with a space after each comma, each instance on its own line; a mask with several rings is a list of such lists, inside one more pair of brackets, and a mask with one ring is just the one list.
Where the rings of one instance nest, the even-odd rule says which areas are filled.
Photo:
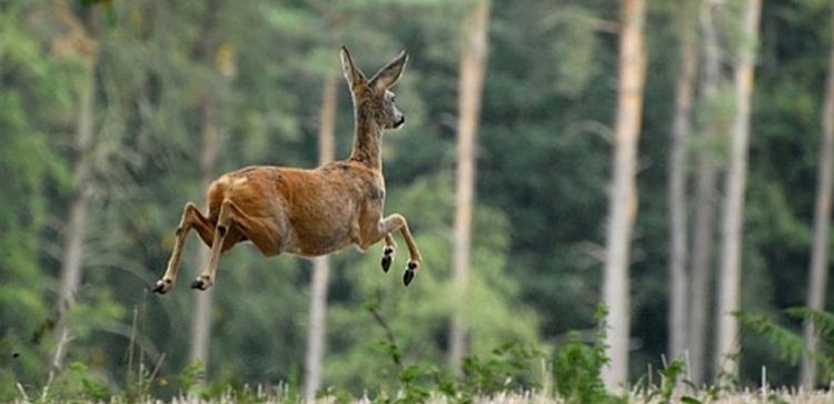
[[[200, 151], [200, 190], [208, 190], [217, 165], [217, 138], [219, 135], [217, 104], [214, 95], [202, 104], [202, 150]], [[196, 252], [196, 265], [202, 269], [208, 264], [209, 251]], [[211, 335], [212, 289], [196, 293], [195, 310], [191, 316], [191, 363], [208, 365], [209, 337]]]

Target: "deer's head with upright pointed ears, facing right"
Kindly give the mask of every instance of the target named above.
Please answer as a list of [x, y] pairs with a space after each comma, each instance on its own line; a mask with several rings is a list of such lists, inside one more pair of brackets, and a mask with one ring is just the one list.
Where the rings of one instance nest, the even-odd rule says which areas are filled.
[[368, 80], [354, 64], [347, 48], [341, 48], [341, 70], [350, 88], [357, 117], [373, 120], [380, 129], [397, 129], [406, 122], [406, 117], [395, 104], [396, 97], [390, 88], [403, 75], [407, 60], [408, 52], [404, 49]]

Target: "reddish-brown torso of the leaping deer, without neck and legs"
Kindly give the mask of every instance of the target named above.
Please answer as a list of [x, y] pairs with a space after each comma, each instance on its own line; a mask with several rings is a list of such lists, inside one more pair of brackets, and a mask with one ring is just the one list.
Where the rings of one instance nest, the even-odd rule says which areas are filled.
[[381, 211], [384, 195], [381, 175], [350, 162], [315, 170], [248, 166], [211, 184], [209, 219], [217, 221], [220, 204], [228, 199], [284, 236], [275, 253], [321, 255], [354, 242], [359, 221], [377, 204]]

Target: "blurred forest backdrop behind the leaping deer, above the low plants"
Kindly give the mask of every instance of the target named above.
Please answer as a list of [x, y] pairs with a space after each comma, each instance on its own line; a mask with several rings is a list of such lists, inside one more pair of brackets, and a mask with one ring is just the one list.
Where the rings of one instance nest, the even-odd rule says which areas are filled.
[[[459, 357], [450, 351], [483, 354], [507, 342], [552, 350], [570, 330], [593, 337], [605, 301], [609, 203], [620, 202], [634, 224], [629, 299], [618, 307], [631, 314], [627, 380], [659, 368], [664, 356], [685, 355], [699, 363], [693, 380], [713, 381], [728, 220], [722, 206], [726, 173], [738, 168], [731, 152], [738, 49], [755, 54], [737, 218], [739, 306], [796, 332], [801, 321], [784, 317], [784, 309], [807, 304], [826, 171], [820, 156], [830, 148], [821, 138], [834, 4], [766, 1], [754, 41], [742, 29], [745, 4], [645, 3], [636, 194], [615, 201], [619, 1], [0, 1], [0, 400], [17, 394], [16, 382], [41, 385], [73, 362], [119, 384], [131, 341], [150, 364], [161, 363], [161, 374], [200, 361], [211, 381], [309, 383], [311, 261], [266, 259], [244, 244], [224, 255], [217, 284], [201, 293], [188, 283], [207, 249], [191, 235], [176, 289], [163, 296], [150, 289], [183, 204], [202, 206], [208, 181], [246, 165], [314, 168], [327, 159], [319, 138], [328, 97], [335, 159], [347, 158], [354, 117], [342, 44], [367, 74], [409, 51], [394, 89], [407, 124], [384, 138], [386, 213], [408, 219], [424, 263], [403, 286], [399, 234], [391, 273], [379, 269], [381, 244], [329, 257], [329, 275], [318, 277], [326, 326], [314, 387], [361, 394], [375, 386], [393, 372], [387, 332], [404, 362], [453, 368]], [[485, 40], [473, 42], [467, 30], [477, 29], [478, 9]], [[465, 57], [473, 47], [484, 47], [481, 59]], [[459, 83], [467, 61], [484, 70], [483, 91]], [[691, 133], [675, 138], [686, 85]], [[467, 158], [458, 151], [464, 89], [480, 98], [469, 114], [468, 200], [456, 176]], [[705, 159], [714, 182], [706, 199]], [[669, 195], [674, 175], [677, 199]], [[693, 246], [704, 208], [714, 211], [712, 229], [701, 229], [702, 244]], [[456, 222], [461, 209], [470, 230]], [[830, 210], [822, 212], [827, 222]], [[673, 214], [688, 218], [677, 222], [683, 241]], [[470, 251], [457, 257], [461, 240]], [[685, 246], [678, 261], [675, 240]], [[699, 281], [698, 252], [706, 254]], [[827, 255], [817, 260], [827, 272]], [[457, 265], [468, 274], [460, 277]], [[682, 276], [677, 286], [672, 273]], [[695, 330], [689, 315], [698, 307], [705, 320]], [[450, 327], [459, 327], [457, 342]], [[673, 344], [676, 332], [684, 336]], [[798, 368], [765, 336], [742, 326], [737, 343], [742, 384], [757, 382], [762, 366], [775, 385], [798, 383]]]

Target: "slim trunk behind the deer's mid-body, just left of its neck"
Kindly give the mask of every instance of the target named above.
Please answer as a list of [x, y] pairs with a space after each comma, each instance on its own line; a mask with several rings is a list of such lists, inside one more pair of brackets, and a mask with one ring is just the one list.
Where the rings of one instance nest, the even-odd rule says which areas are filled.
[[[334, 160], [336, 152], [334, 128], [336, 124], [336, 74], [325, 79], [321, 100], [321, 118], [318, 132], [318, 162], [325, 164]], [[325, 356], [327, 279], [330, 262], [327, 256], [312, 260], [312, 281], [310, 284], [310, 329], [307, 336], [307, 366], [305, 375], [305, 397], [312, 402], [316, 391], [321, 385], [321, 368]]]

